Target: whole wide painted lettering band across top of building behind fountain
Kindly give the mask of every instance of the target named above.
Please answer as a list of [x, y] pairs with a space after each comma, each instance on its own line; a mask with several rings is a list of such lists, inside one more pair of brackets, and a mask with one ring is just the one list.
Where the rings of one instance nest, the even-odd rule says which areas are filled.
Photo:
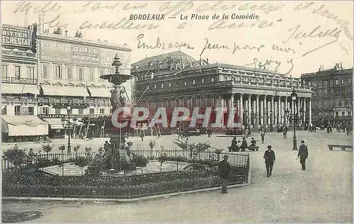
[[120, 57], [121, 62], [125, 61], [125, 54], [121, 50], [107, 50], [40, 40], [40, 60], [50, 62], [112, 67], [113, 57], [116, 54]]

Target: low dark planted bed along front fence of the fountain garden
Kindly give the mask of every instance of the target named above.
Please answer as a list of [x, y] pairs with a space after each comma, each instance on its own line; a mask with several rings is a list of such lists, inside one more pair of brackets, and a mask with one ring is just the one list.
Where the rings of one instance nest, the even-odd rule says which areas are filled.
[[[230, 184], [247, 182], [248, 169], [233, 167]], [[19, 175], [21, 174], [21, 175]], [[28, 172], [4, 172], [3, 196], [135, 198], [221, 186], [214, 171], [166, 172], [131, 177], [42, 177]]]

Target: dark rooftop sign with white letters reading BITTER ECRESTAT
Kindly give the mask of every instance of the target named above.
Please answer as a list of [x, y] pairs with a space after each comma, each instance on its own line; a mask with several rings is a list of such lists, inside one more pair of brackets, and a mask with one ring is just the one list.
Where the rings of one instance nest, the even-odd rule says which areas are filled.
[[32, 47], [30, 30], [3, 26], [1, 28], [1, 44], [30, 48]]

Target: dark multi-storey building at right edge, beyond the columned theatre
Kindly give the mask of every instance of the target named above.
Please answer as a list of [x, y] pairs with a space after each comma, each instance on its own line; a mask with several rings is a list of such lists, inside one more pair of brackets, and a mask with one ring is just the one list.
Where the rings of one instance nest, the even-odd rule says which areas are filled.
[[333, 69], [302, 74], [304, 83], [312, 86], [312, 113], [316, 125], [351, 123], [353, 119], [353, 68]]

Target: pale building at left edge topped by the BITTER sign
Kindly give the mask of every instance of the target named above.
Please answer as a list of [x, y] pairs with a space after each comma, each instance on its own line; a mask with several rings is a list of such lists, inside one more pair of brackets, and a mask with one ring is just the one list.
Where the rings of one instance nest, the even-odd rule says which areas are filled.
[[37, 117], [37, 55], [33, 28], [1, 27], [1, 137], [15, 141], [47, 135], [48, 125]]

